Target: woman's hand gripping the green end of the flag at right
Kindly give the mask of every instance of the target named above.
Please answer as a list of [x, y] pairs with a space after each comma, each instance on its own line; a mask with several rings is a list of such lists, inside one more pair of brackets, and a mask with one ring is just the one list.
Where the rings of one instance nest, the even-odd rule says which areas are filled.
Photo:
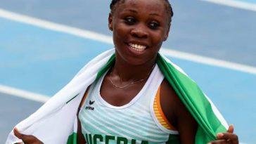
[[210, 144], [238, 144], [238, 136], [233, 133], [233, 125], [229, 126], [226, 133], [218, 133], [217, 140], [211, 141]]

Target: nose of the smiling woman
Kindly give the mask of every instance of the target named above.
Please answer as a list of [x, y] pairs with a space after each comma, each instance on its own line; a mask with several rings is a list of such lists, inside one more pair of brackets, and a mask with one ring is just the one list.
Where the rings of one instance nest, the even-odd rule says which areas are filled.
[[133, 37], [145, 39], [148, 37], [147, 27], [143, 24], [137, 24], [131, 31]]

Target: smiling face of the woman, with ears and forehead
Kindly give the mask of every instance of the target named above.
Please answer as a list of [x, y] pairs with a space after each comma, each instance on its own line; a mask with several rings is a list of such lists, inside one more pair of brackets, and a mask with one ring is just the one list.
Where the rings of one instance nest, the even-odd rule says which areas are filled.
[[110, 13], [117, 60], [142, 65], [155, 60], [169, 32], [163, 0], [125, 0]]

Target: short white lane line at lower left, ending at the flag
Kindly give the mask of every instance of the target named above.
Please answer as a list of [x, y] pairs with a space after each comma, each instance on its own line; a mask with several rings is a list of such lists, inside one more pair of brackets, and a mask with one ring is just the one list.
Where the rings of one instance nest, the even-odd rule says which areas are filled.
[[47, 100], [49, 100], [49, 96], [41, 95], [38, 93], [32, 93], [30, 91], [24, 91], [21, 89], [15, 89], [10, 86], [4, 86], [0, 84], [0, 93], [6, 93], [11, 96], [16, 96], [20, 98], [25, 98], [28, 100], [34, 100], [37, 102], [45, 103]]

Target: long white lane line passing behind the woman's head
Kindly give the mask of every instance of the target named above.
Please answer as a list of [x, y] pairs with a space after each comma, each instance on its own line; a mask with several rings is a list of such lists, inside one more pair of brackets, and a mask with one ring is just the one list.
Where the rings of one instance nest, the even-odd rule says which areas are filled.
[[[39, 20], [37, 18], [31, 18], [27, 15], [20, 15], [17, 13], [13, 13], [10, 11], [5, 11], [3, 9], [0, 9], [0, 17], [6, 18], [9, 20], [15, 20], [18, 22], [23, 22], [29, 25], [34, 25], [37, 27], [42, 27], [47, 30], [53, 30], [58, 32], [65, 32], [67, 34], [72, 34], [77, 37], [83, 37], [86, 39], [92, 39], [95, 41], [101, 41], [105, 44], [113, 44], [113, 39], [110, 36], [104, 35], [104, 34], [98, 34], [96, 32], [91, 32], [88, 30], [82, 30], [78, 29], [76, 27], [69, 27], [66, 25], [60, 25], [54, 22], [49, 22], [46, 20]], [[225, 67], [231, 70], [238, 70], [241, 72], [247, 72], [250, 74], [256, 74], [256, 67], [248, 66], [248, 65], [242, 65], [238, 63], [231, 63], [224, 60], [217, 60], [214, 58], [208, 58], [205, 56], [195, 55], [191, 53], [184, 53], [181, 51], [174, 51], [169, 50], [168, 48], [162, 48], [162, 52], [165, 53], [167, 56], [171, 56], [174, 58], [180, 58], [184, 60], [190, 60], [196, 63], [204, 63], [207, 65], [214, 65], [217, 67]]]

